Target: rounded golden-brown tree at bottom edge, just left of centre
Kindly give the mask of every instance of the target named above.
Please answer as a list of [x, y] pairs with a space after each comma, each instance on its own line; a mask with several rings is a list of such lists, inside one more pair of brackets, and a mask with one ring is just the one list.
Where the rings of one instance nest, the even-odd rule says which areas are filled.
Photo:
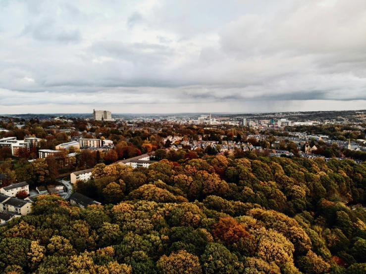
[[162, 274], [201, 274], [202, 268], [197, 256], [185, 250], [163, 255], [157, 261], [157, 268]]

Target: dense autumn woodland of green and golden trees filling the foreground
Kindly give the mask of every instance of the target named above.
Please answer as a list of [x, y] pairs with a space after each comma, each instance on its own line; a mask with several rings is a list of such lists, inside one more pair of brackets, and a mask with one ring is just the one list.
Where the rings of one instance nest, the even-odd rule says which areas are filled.
[[0, 228], [0, 273], [366, 273], [366, 165], [206, 156], [148, 169], [98, 164]]

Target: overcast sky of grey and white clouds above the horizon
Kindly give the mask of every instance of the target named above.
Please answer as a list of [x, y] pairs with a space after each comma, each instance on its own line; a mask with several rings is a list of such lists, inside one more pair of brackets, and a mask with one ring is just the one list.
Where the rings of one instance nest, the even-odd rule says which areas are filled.
[[0, 114], [366, 109], [365, 0], [0, 0]]

